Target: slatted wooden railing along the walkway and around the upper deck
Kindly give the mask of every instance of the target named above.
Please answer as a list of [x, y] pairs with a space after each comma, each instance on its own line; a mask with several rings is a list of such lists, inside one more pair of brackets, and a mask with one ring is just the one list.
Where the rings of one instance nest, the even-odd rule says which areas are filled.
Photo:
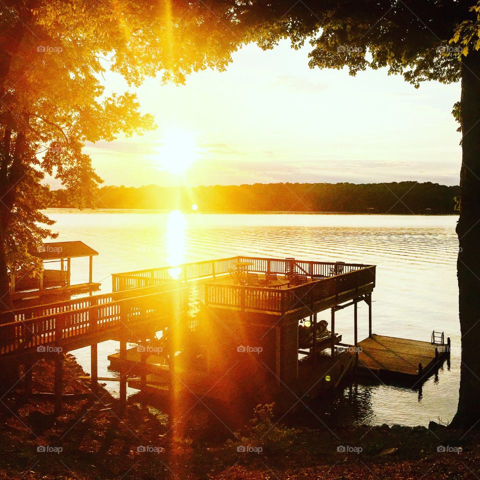
[[[281, 274], [286, 268], [283, 259], [242, 256], [187, 263], [180, 267], [118, 273], [114, 275], [116, 288], [112, 293], [29, 306], [0, 314], [0, 354], [42, 345], [59, 346], [73, 337], [155, 321], [168, 316], [168, 312], [171, 316], [176, 308], [172, 305], [178, 305], [180, 297], [185, 302], [188, 299], [190, 285], [186, 281], [215, 278], [228, 272], [236, 261], [252, 262], [251, 270], [257, 272]], [[332, 275], [334, 266], [333, 262], [297, 260], [296, 268], [307, 271], [310, 281], [284, 289], [202, 282], [204, 289], [200, 289], [200, 301], [210, 306], [285, 313], [343, 292], [358, 290], [364, 285], [374, 286], [374, 265], [344, 264], [344, 273]], [[174, 281], [174, 275], [178, 276], [177, 281]], [[180, 301], [183, 301], [181, 298]], [[168, 309], [169, 305], [173, 310]]]

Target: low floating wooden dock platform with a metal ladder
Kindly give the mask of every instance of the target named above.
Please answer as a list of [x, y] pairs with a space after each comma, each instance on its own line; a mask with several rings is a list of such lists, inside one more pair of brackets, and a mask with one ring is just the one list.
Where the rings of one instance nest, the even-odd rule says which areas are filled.
[[423, 376], [449, 354], [447, 344], [375, 334], [361, 340], [358, 347], [357, 367], [376, 376]]

